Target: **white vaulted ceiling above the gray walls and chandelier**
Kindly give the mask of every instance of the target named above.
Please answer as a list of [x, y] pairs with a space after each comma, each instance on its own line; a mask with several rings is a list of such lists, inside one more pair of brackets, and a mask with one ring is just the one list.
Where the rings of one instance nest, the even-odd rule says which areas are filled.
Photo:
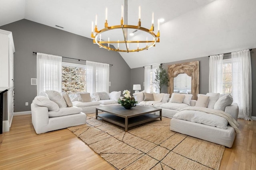
[[[27, 19], [90, 38], [98, 28], [120, 24], [123, 0], [0, 0], [0, 26]], [[164, 18], [160, 43], [145, 51], [120, 53], [130, 68], [256, 48], [256, 0], [128, 0], [128, 24], [142, 27]], [[56, 27], [59, 25], [64, 28]], [[156, 23], [155, 23], [156, 25]], [[106, 50], [106, 53], [108, 51]]]

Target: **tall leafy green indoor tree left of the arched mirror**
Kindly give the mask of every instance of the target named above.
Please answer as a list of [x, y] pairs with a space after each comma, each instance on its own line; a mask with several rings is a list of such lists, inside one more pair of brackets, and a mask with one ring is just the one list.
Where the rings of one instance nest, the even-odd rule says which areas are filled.
[[162, 87], [168, 86], [169, 77], [166, 70], [162, 68], [162, 64], [159, 66], [158, 69], [156, 69], [155, 74], [156, 75], [153, 83], [156, 84], [156, 86], [158, 86], [161, 93]]

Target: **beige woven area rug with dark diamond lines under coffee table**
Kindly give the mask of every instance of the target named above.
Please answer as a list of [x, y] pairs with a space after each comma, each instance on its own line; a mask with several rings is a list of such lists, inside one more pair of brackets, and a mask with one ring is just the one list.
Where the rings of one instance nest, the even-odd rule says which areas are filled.
[[87, 123], [68, 128], [120, 170], [218, 170], [225, 147], [170, 131], [163, 117], [125, 132], [95, 114]]

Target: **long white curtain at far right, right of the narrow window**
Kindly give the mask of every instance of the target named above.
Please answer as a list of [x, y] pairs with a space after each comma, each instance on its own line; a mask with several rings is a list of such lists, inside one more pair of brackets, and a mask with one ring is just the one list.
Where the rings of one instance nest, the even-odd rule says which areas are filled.
[[250, 50], [231, 53], [232, 96], [238, 104], [238, 118], [252, 120], [252, 72]]

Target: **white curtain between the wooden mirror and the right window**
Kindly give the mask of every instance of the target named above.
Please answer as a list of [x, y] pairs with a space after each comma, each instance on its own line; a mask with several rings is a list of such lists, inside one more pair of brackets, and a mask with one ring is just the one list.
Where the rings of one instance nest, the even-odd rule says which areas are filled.
[[210, 56], [209, 92], [222, 93], [222, 60], [223, 54]]

